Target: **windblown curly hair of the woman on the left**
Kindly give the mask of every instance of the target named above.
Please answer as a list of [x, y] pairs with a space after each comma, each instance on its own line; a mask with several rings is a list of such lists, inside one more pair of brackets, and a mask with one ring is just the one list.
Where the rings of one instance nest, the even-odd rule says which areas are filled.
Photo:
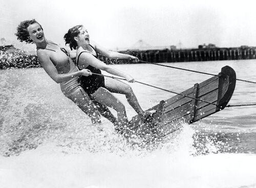
[[[29, 32], [27, 30], [27, 28], [33, 23], [38, 23], [38, 22], [35, 19], [31, 19], [31, 20], [25, 20], [19, 23], [17, 27], [17, 33], [15, 33], [15, 35], [17, 36], [17, 39], [20, 42], [25, 41], [27, 43], [33, 43], [33, 41], [29, 38]], [[40, 25], [40, 23], [38, 23], [38, 25], [42, 29], [42, 26]]]

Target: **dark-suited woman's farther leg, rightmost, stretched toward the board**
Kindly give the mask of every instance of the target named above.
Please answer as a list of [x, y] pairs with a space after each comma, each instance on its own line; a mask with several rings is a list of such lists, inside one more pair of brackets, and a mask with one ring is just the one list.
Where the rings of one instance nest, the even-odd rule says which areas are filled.
[[113, 78], [105, 77], [105, 87], [111, 92], [124, 94], [128, 103], [133, 107], [133, 109], [139, 115], [144, 115], [144, 111], [141, 109], [130, 85]]

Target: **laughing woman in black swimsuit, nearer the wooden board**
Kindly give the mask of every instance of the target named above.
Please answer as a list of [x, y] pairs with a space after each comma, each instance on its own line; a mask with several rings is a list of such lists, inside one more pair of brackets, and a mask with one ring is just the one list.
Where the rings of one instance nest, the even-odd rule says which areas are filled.
[[102, 48], [102, 46], [90, 41], [89, 34], [82, 25], [69, 29], [68, 33], [65, 34], [64, 39], [66, 44], [70, 45], [71, 50], [77, 50], [76, 65], [78, 69], [82, 70], [87, 68], [93, 73], [90, 77], [81, 78], [81, 84], [88, 95], [96, 101], [114, 108], [117, 111], [118, 122], [127, 123], [125, 107], [115, 96], [112, 95], [111, 92], [124, 94], [129, 104], [135, 109], [140, 117], [144, 118], [148, 115], [141, 109], [130, 85], [113, 78], [104, 78], [103, 76], [100, 76], [100, 69], [105, 70], [110, 74], [123, 77], [127, 82], [135, 82], [134, 78], [129, 74], [121, 72], [112, 66], [106, 65], [97, 59], [99, 54], [110, 59], [129, 59], [134, 62], [138, 62], [139, 59], [137, 57]]

